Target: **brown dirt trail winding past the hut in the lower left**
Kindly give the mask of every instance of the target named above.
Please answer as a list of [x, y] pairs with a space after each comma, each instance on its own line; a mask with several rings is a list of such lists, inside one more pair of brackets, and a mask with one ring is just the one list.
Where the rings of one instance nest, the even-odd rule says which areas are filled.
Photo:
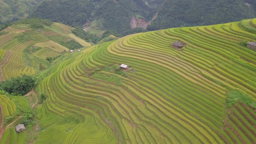
[[[34, 106], [38, 103], [38, 96], [37, 94], [35, 93], [34, 91], [34, 88], [32, 90], [30, 90], [30, 92], [28, 92], [28, 94], [26, 94], [25, 96], [29, 96], [30, 94], [34, 94], [34, 96], [36, 96], [36, 102], [31, 106], [32, 108], [34, 108]], [[1, 113], [3, 115], [3, 112], [4, 112], [4, 109], [2, 108], [2, 105], [0, 105], [0, 108], [1, 108]], [[23, 113], [21, 116], [19, 116], [18, 118], [16, 118], [16, 120], [14, 120], [14, 122], [16, 122], [19, 118], [21, 118], [25, 113]], [[1, 123], [1, 127], [0, 127], [0, 142], [2, 141], [2, 136], [5, 132], [5, 130], [7, 128], [9, 128], [10, 126], [12, 126], [12, 124], [14, 124], [14, 122], [8, 124], [8, 126], [6, 126], [5, 128], [3, 127], [4, 126], [4, 121], [3, 121], [3, 116], [2, 116], [2, 123]]]

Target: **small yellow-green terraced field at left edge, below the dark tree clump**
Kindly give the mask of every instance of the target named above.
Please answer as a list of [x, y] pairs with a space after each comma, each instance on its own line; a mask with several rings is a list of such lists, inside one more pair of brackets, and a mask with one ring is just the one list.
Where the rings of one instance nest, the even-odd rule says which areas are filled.
[[7, 96], [0, 94], [0, 105], [2, 105], [4, 109], [4, 116], [12, 116], [16, 111], [16, 106], [12, 100], [10, 100]]

